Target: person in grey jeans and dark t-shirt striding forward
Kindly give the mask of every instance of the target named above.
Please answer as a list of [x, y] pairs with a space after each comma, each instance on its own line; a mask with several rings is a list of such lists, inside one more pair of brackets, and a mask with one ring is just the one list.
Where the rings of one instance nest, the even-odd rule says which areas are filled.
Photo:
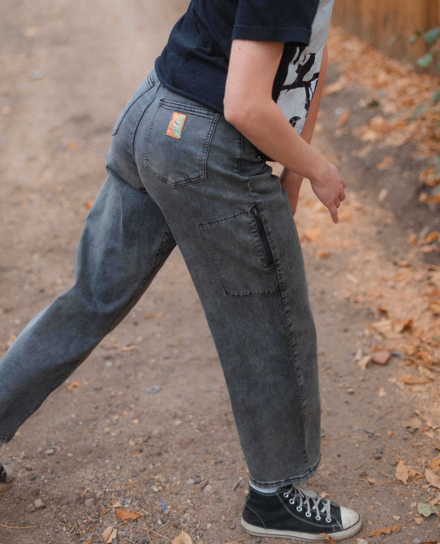
[[[357, 512], [299, 486], [320, 460], [320, 403], [292, 211], [303, 177], [335, 223], [345, 198], [336, 167], [309, 145], [332, 6], [191, 1], [116, 122], [75, 286], [24, 328], [0, 362], [0, 442], [123, 319], [177, 243], [249, 468], [244, 529], [302, 540], [360, 530]], [[284, 166], [281, 183], [269, 158]], [[2, 471], [5, 490], [12, 480]]]

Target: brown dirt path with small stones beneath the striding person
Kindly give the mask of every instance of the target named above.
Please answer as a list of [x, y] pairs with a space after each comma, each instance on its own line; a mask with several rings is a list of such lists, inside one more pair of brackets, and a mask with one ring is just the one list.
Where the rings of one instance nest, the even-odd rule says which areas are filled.
[[[80, 232], [106, 176], [111, 129], [184, 7], [184, 0], [3, 0], [4, 349], [73, 284]], [[330, 66], [329, 84], [338, 70]], [[359, 106], [367, 93], [350, 86], [325, 97], [314, 140], [348, 182], [343, 220], [332, 226], [306, 186], [297, 214], [323, 407], [323, 461], [309, 486], [359, 510], [364, 527], [357, 536], [368, 542], [436, 541], [439, 518], [417, 512], [419, 501], [436, 498], [422, 477], [439, 455], [436, 390], [399, 386], [396, 377], [406, 370], [398, 354], [365, 369], [355, 359], [378, 342], [368, 330], [379, 319], [371, 286], [385, 277], [399, 298], [403, 287], [389, 278], [407, 269], [399, 267], [408, 255], [413, 267], [438, 261], [435, 252], [411, 253], [407, 238], [437, 230], [440, 216], [418, 203], [423, 163], [409, 144], [393, 151], [391, 169], [378, 170], [389, 150], [362, 156], [364, 144], [338, 132], [337, 108], [350, 110], [353, 127], [375, 114], [374, 106]], [[438, 381], [436, 367], [429, 372], [427, 381]], [[424, 422], [436, 419], [428, 432], [402, 425], [414, 410]], [[198, 544], [247, 539], [240, 527], [246, 465], [214, 344], [177, 249], [129, 316], [1, 454], [17, 473], [0, 498], [1, 544], [101, 542], [102, 531], [118, 523], [120, 544], [160, 544], [181, 529]], [[413, 467], [407, 485], [395, 477], [399, 459]], [[35, 499], [45, 508], [30, 511]], [[122, 523], [117, 503], [141, 516]], [[368, 536], [393, 524], [402, 527]]]

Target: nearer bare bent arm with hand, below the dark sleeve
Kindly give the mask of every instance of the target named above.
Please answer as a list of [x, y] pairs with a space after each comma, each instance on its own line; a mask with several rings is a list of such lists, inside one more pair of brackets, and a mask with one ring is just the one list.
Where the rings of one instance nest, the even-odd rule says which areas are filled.
[[336, 166], [313, 149], [272, 100], [284, 44], [233, 40], [224, 98], [225, 118], [259, 150], [307, 177], [314, 193], [338, 222], [345, 182]]

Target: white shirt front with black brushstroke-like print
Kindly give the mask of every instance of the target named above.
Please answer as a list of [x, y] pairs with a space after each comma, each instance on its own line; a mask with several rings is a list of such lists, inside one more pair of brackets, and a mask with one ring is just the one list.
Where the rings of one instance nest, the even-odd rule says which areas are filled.
[[277, 104], [301, 134], [319, 77], [334, 0], [320, 0], [309, 45], [296, 49]]

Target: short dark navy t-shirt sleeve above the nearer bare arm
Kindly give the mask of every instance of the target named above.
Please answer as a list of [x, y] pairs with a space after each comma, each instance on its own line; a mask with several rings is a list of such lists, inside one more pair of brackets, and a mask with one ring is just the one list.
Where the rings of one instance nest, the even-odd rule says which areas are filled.
[[319, 0], [238, 0], [232, 39], [308, 45]]

